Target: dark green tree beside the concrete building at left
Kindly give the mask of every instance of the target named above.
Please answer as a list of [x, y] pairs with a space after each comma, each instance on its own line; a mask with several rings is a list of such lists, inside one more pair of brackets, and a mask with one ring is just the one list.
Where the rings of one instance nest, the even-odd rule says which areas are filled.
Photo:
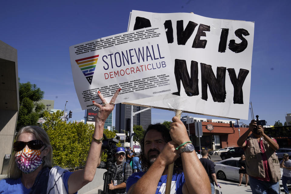
[[17, 119], [16, 131], [23, 126], [37, 125], [39, 118], [43, 116], [45, 105], [39, 103], [43, 98], [44, 92], [35, 84], [20, 83], [19, 85], [19, 112]]

